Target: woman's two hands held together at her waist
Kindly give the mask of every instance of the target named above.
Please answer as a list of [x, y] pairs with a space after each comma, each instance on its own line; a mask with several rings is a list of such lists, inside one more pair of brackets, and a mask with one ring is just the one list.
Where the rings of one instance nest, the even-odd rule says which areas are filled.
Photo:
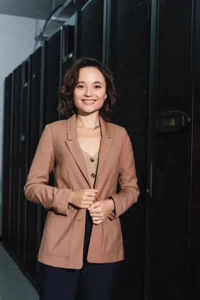
[[80, 189], [72, 191], [69, 196], [69, 202], [78, 208], [88, 209], [92, 222], [94, 224], [102, 223], [110, 212], [114, 209], [114, 201], [112, 199], [96, 201], [94, 203], [97, 189]]

